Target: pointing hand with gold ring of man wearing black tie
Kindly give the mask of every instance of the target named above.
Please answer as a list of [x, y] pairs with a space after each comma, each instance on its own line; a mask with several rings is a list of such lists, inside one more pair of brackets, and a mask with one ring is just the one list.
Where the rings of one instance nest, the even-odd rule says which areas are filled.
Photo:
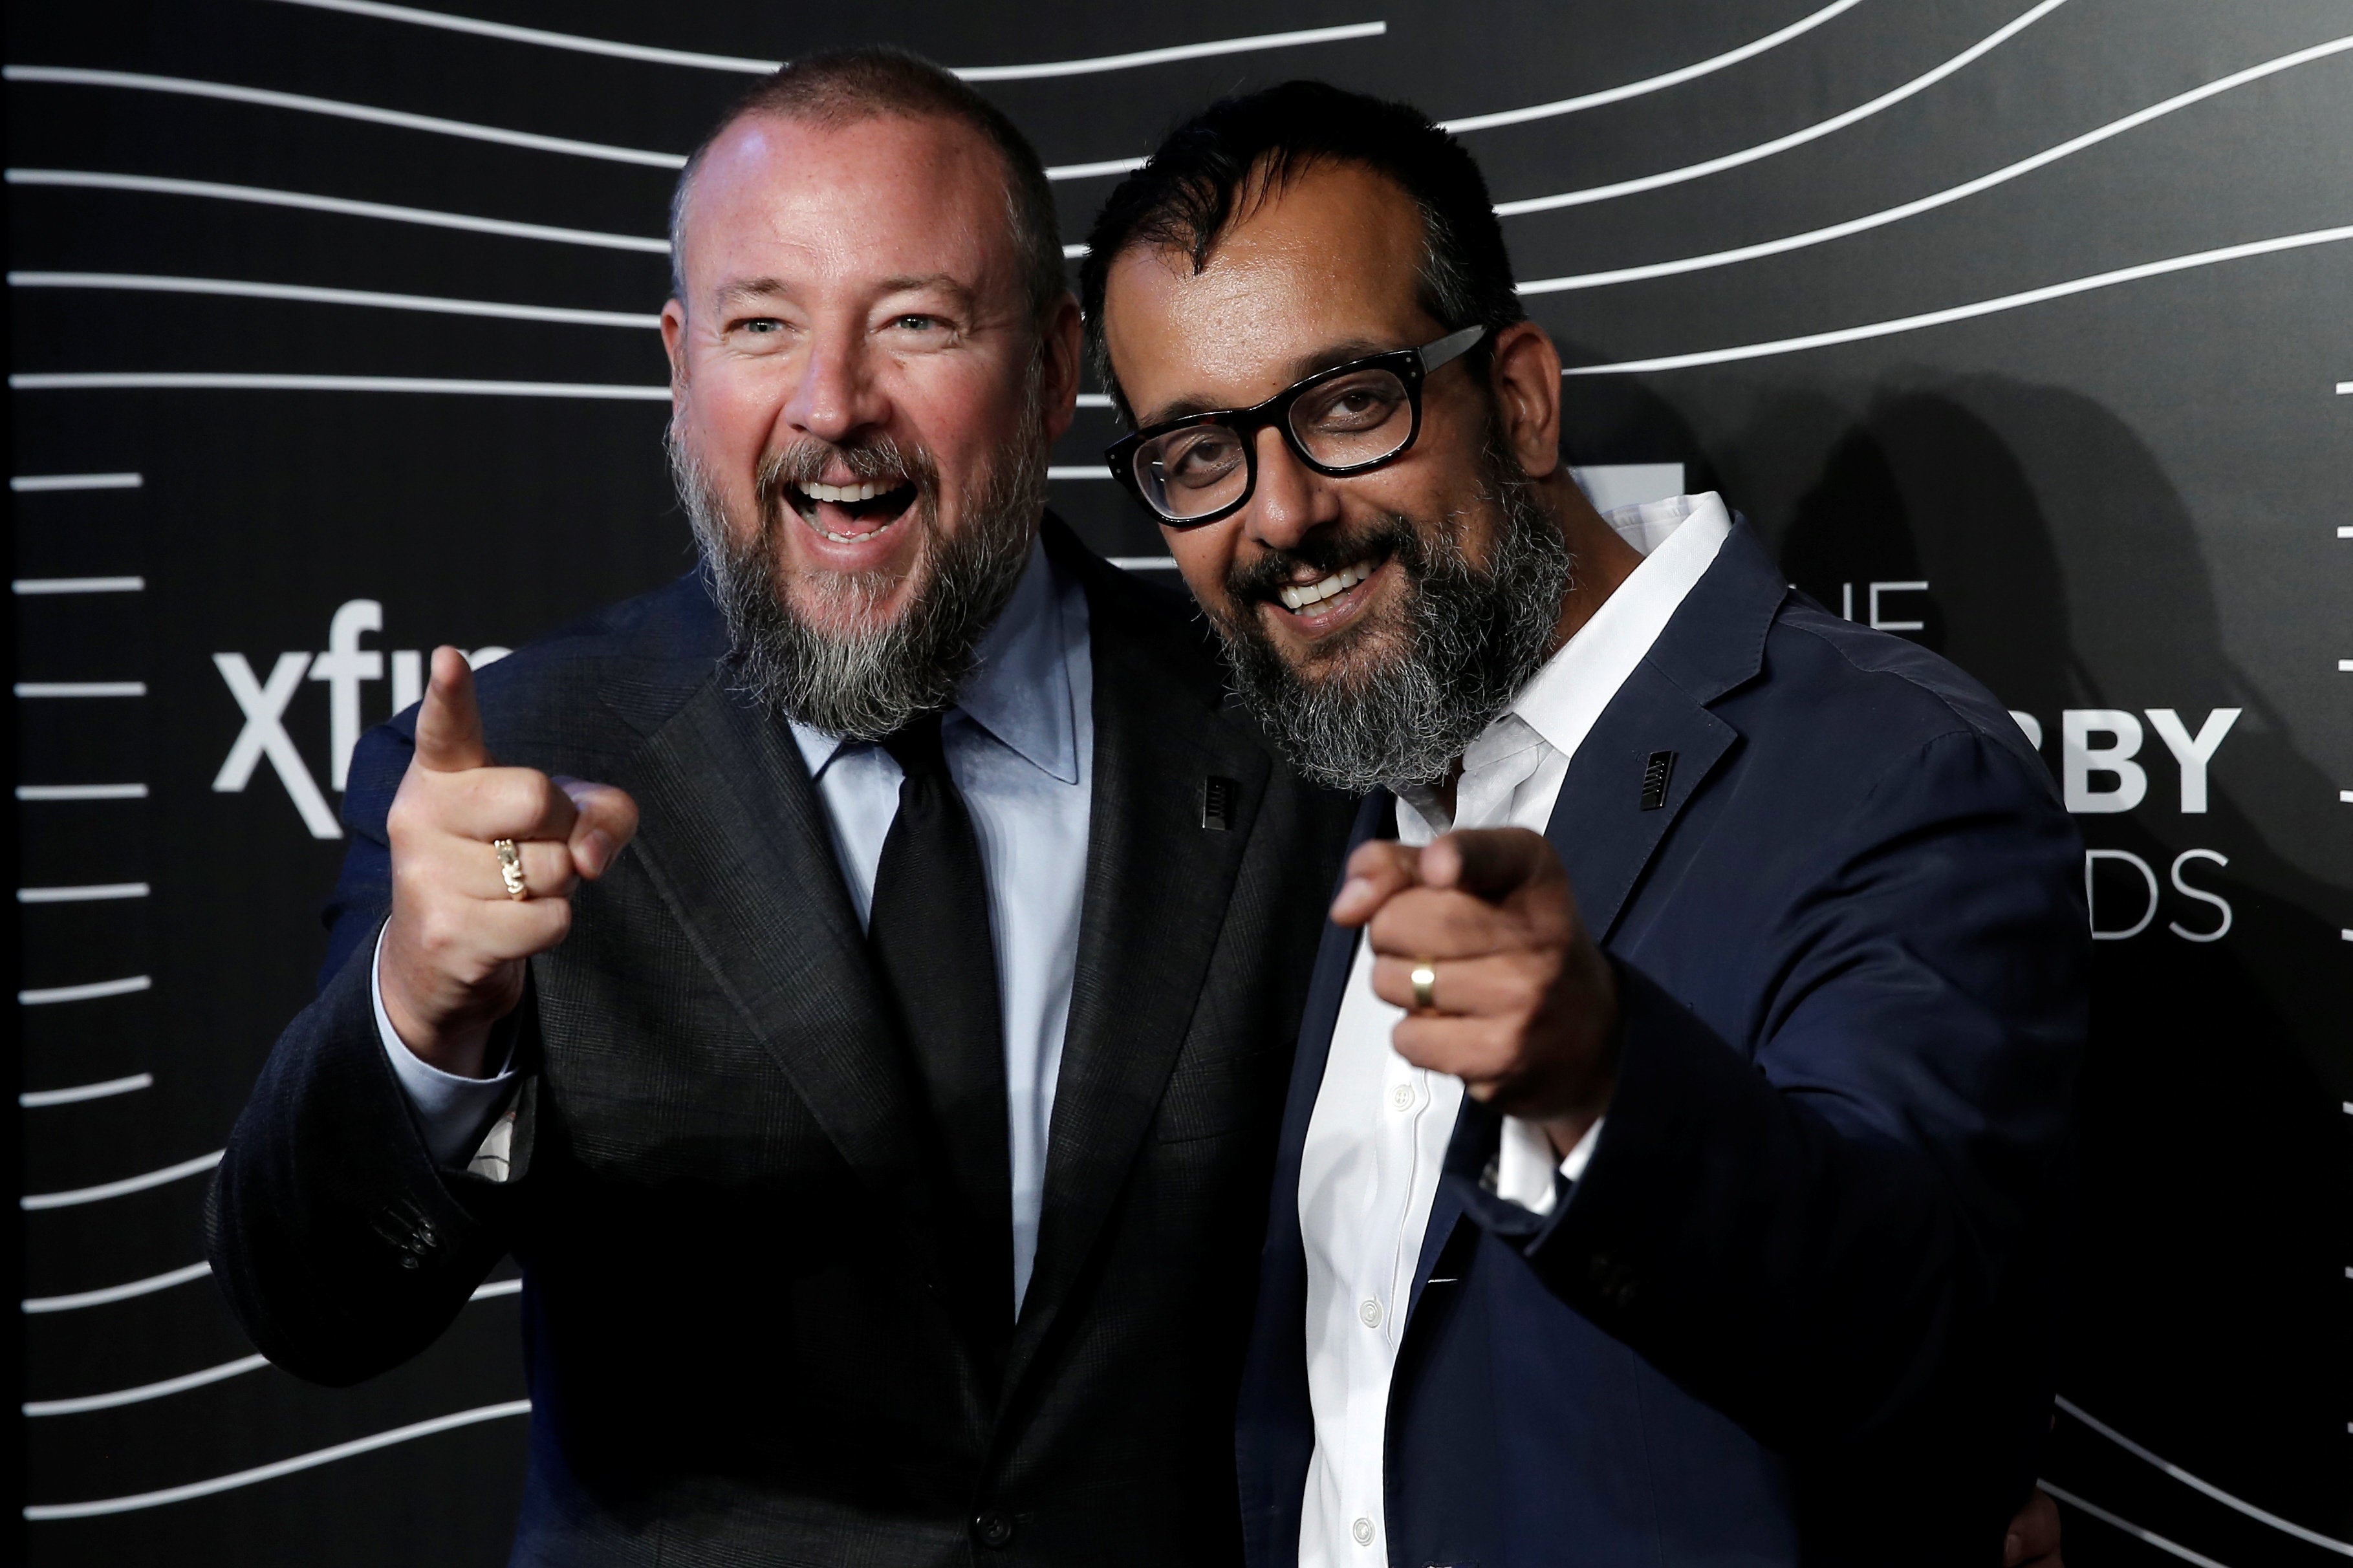
[[[565, 940], [572, 886], [605, 875], [638, 832], [638, 802], [612, 785], [494, 766], [466, 658], [433, 649], [416, 755], [386, 827], [384, 1011], [421, 1060], [485, 1077], [489, 1027], [522, 999], [522, 961]], [[508, 898], [492, 839], [515, 839], [529, 898]]]

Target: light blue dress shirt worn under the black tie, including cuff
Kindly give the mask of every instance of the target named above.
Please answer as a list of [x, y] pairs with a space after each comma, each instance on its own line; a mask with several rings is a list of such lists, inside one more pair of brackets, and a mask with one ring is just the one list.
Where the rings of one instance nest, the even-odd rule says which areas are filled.
[[[880, 745], [840, 741], [807, 724], [793, 724], [793, 738], [826, 804], [833, 853], [864, 926], [904, 776]], [[1038, 1258], [1047, 1126], [1071, 1020], [1094, 785], [1087, 595], [1047, 562], [1045, 545], [1031, 545], [1021, 583], [981, 639], [972, 677], [941, 724], [941, 745], [988, 877], [998, 997], [1005, 1006], [1012, 1291], [1019, 1312]], [[376, 1030], [393, 1074], [416, 1107], [433, 1157], [452, 1164], [513, 1074], [464, 1079], [421, 1063], [393, 1032], [381, 983], [374, 990]]]

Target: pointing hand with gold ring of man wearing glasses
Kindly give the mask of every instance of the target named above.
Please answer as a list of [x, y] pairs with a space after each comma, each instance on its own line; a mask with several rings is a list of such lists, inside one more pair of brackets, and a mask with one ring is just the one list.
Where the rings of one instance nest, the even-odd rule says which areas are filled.
[[[1407, 1009], [1398, 1056], [1452, 1072], [1567, 1152], [1617, 1081], [1617, 976], [1577, 917], [1560, 856], [1525, 827], [1449, 832], [1428, 849], [1362, 844], [1332, 900], [1369, 926], [1372, 990]], [[1428, 1011], [1414, 1011], [1431, 961]]]

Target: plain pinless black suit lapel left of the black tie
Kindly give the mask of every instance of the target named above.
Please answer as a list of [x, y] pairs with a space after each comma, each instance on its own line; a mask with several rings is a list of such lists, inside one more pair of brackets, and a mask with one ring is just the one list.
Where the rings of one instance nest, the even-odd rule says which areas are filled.
[[708, 679], [614, 783], [640, 802], [633, 853], [696, 957], [842, 1159], [929, 1237], [922, 1098], [784, 726]]

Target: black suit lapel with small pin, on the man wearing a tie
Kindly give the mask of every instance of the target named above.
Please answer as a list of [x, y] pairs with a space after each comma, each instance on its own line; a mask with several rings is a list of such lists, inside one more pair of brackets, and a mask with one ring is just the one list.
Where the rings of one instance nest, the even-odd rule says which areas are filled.
[[[1007, 1392], [1049, 1333], [1151, 1128], [1271, 776], [1266, 755], [1221, 717], [1214, 682], [1184, 677], [1198, 649], [1134, 635], [1165, 625], [1167, 614], [1153, 607], [1139, 616], [1141, 590], [1052, 522], [1047, 548], [1087, 588], [1094, 788], [1038, 1260]], [[1235, 785], [1224, 832], [1202, 825], [1209, 778]]]

